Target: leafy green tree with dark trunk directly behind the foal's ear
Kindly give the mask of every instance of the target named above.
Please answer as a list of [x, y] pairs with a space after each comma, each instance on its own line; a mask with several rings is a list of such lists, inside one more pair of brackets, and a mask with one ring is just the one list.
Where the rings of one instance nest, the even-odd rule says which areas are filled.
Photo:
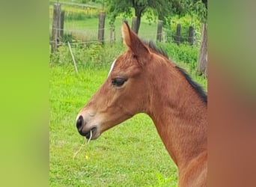
[[[177, 0], [173, 0], [177, 1]], [[165, 18], [173, 12], [170, 0], [108, 0], [106, 2], [108, 12], [111, 14], [111, 21], [115, 22], [116, 16], [124, 13], [124, 16], [132, 16], [131, 9], [134, 10], [134, 15], [137, 16], [137, 25], [135, 28], [136, 34], [141, 24], [141, 16], [147, 10], [152, 10], [153, 14], [158, 16], [159, 19], [165, 22]], [[152, 18], [152, 14], [149, 15], [149, 19]]]

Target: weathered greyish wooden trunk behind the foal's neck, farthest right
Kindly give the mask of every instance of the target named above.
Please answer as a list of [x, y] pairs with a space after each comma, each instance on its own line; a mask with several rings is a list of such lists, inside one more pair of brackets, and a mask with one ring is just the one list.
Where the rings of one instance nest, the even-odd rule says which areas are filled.
[[207, 77], [207, 23], [202, 25], [201, 46], [198, 58], [198, 72]]

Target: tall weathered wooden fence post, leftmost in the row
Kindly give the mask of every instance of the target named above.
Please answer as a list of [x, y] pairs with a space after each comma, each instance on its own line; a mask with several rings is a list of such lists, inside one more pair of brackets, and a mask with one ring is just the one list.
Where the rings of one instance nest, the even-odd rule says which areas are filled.
[[53, 6], [53, 16], [52, 16], [51, 52], [56, 52], [58, 48], [58, 37], [60, 36], [60, 17], [61, 17], [61, 4], [55, 3]]

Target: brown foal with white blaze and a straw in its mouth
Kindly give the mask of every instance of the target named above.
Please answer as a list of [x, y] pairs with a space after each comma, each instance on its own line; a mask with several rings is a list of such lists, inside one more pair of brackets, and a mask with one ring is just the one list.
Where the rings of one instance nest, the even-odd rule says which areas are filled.
[[127, 52], [79, 112], [76, 127], [96, 139], [137, 113], [148, 114], [179, 171], [179, 186], [207, 186], [207, 95], [167, 55], [145, 44], [126, 22]]

